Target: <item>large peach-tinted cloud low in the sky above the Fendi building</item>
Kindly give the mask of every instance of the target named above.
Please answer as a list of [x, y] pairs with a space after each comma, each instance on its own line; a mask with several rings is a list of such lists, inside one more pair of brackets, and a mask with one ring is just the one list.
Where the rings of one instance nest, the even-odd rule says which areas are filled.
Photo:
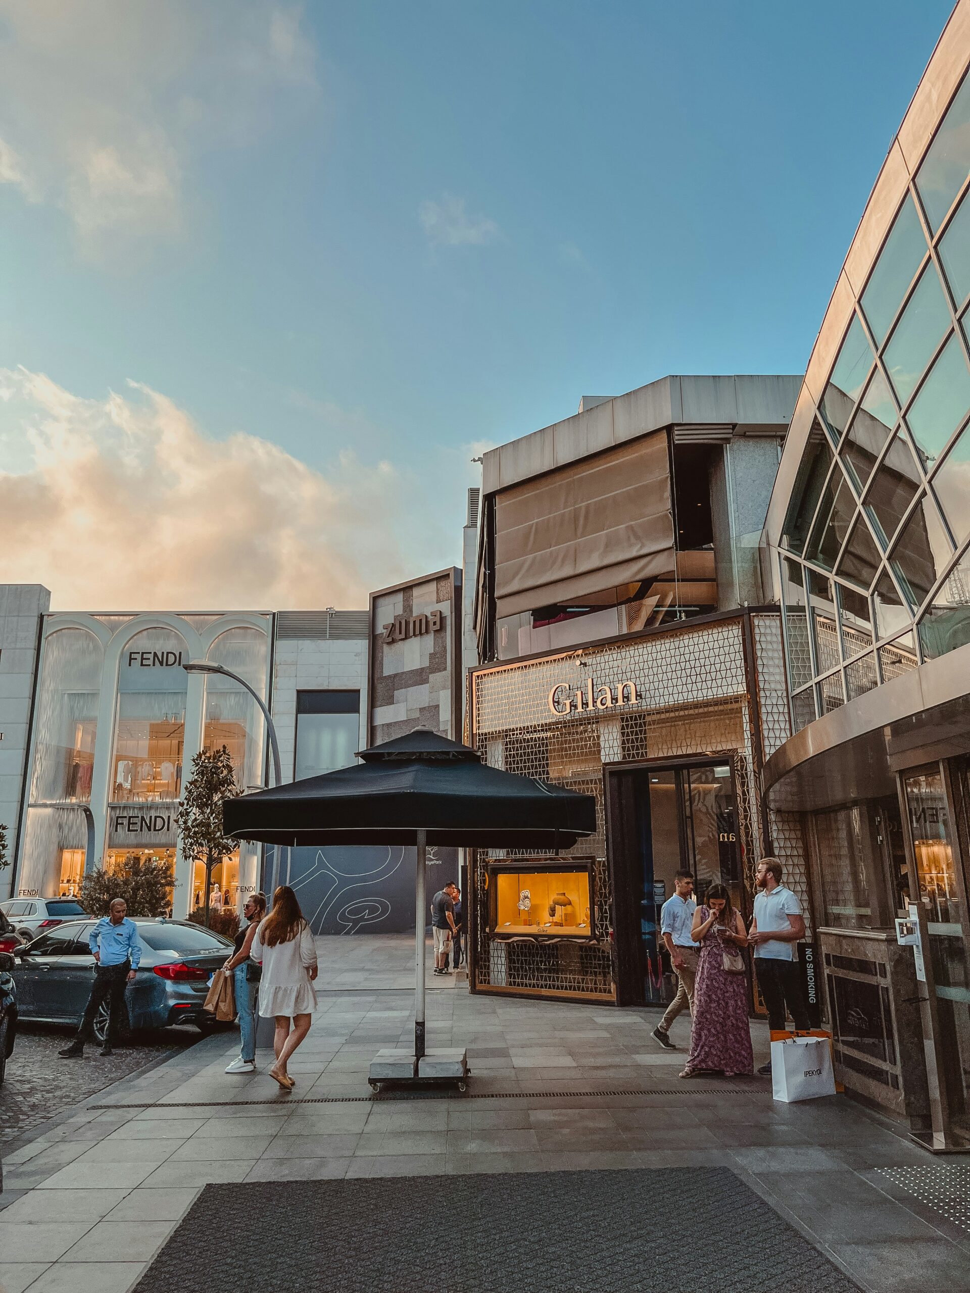
[[418, 481], [347, 450], [323, 473], [256, 436], [212, 440], [137, 383], [91, 400], [0, 369], [0, 438], [22, 465], [0, 472], [4, 578], [62, 609], [366, 606], [457, 544], [460, 521], [415, 526], [415, 506], [453, 497], [458, 515], [463, 464]]

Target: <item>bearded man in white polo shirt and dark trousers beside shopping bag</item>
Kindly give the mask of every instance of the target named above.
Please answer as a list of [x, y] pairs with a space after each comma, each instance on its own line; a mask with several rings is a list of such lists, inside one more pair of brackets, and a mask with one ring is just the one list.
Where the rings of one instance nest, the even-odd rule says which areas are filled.
[[[754, 970], [764, 1005], [768, 1007], [768, 1028], [782, 1032], [785, 1007], [795, 1028], [811, 1028], [802, 989], [802, 970], [798, 965], [795, 944], [804, 937], [802, 905], [781, 883], [781, 862], [777, 857], [762, 857], [758, 862], [758, 895], [754, 899], [754, 921], [748, 936], [754, 948]], [[771, 1064], [762, 1064], [759, 1073], [770, 1073]]]

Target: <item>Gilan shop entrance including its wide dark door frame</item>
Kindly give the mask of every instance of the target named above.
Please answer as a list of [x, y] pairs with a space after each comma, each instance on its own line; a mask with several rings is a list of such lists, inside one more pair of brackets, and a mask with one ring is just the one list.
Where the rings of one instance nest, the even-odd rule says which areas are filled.
[[[626, 944], [617, 952], [631, 971], [626, 981], [641, 985], [640, 1001], [663, 1005], [673, 999], [676, 979], [660, 936], [660, 913], [675, 874], [691, 871], [698, 901], [711, 884], [726, 884], [748, 918], [731, 756], [610, 768], [608, 781], [617, 941]], [[625, 921], [626, 912], [636, 913], [639, 924]], [[625, 998], [623, 1005], [635, 1002], [629, 990]]]

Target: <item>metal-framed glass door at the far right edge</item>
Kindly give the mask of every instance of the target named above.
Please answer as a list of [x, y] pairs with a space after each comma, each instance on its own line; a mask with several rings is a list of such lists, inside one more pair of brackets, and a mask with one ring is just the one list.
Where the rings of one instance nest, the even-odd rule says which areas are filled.
[[[936, 1073], [929, 1073], [935, 1138], [970, 1138], [970, 980], [966, 887], [940, 764], [903, 777], [921, 906], [926, 993], [925, 1032]], [[922, 984], [921, 984], [922, 987]], [[929, 1027], [927, 1027], [929, 1025]]]

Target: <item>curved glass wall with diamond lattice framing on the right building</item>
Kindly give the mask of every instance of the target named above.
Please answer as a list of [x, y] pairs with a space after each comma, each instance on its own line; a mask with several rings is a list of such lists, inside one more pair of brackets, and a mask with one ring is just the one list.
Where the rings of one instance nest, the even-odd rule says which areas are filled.
[[855, 301], [782, 526], [795, 731], [970, 643], [970, 80]]

